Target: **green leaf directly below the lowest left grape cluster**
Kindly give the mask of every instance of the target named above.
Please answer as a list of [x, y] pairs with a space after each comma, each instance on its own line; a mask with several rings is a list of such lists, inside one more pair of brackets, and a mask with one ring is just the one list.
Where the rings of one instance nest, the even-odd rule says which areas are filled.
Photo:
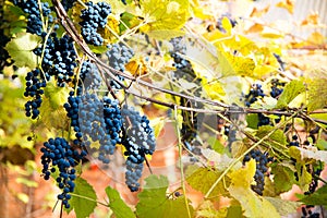
[[76, 218], [88, 217], [97, 206], [97, 195], [90, 184], [82, 178], [75, 180], [75, 190], [70, 199], [71, 207], [76, 214]]

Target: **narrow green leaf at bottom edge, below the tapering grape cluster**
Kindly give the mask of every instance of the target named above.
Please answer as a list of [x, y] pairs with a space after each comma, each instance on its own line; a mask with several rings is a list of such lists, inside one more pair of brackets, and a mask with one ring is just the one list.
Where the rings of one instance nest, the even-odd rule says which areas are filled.
[[132, 209], [122, 201], [117, 190], [108, 186], [106, 187], [106, 194], [109, 197], [109, 207], [112, 209], [116, 218], [136, 217]]

